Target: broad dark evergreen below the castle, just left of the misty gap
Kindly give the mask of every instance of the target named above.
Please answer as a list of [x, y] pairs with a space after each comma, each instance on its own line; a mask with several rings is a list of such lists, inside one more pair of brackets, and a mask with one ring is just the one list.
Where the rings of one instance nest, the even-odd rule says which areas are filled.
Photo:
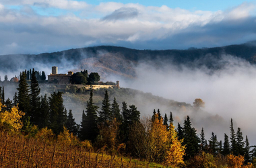
[[63, 132], [63, 126], [65, 126], [67, 120], [67, 113], [63, 106], [62, 92], [53, 92], [49, 97], [49, 128], [53, 130], [55, 134]]

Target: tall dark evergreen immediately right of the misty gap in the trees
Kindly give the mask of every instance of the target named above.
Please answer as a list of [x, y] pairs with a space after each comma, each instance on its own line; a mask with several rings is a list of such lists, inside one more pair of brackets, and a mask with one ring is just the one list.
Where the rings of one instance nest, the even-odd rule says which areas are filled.
[[93, 93], [90, 91], [90, 99], [87, 101], [86, 114], [83, 113], [81, 122], [80, 138], [82, 140], [96, 140], [98, 135], [97, 106], [94, 106]]

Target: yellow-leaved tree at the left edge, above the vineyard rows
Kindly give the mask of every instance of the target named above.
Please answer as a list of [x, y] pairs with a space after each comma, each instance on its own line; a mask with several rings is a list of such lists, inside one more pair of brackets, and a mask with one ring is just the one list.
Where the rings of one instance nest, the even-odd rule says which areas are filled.
[[24, 115], [25, 113], [20, 111], [18, 106], [11, 108], [10, 112], [3, 111], [3, 104], [0, 101], [0, 122], [11, 126], [12, 131], [18, 131], [22, 128], [22, 116]]

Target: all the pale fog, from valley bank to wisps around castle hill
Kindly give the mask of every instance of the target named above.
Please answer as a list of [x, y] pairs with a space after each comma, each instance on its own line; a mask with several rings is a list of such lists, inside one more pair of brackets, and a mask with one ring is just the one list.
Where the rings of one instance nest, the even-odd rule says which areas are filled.
[[[86, 58], [87, 53], [83, 53], [83, 55]], [[177, 126], [177, 122], [183, 124], [186, 116], [189, 115], [192, 126], [197, 129], [197, 133], [199, 134], [203, 127], [208, 140], [212, 132], [217, 134], [218, 140], [223, 140], [224, 133], [229, 136], [230, 118], [232, 118], [234, 129], [237, 130], [237, 127], [240, 127], [244, 137], [247, 135], [249, 142], [256, 144], [256, 132], [254, 130], [256, 66], [251, 65], [246, 60], [226, 54], [223, 54], [218, 60], [211, 57], [211, 61], [218, 65], [218, 69], [198, 66], [203, 65], [201, 64], [202, 61], [205, 60], [195, 60], [189, 65], [167, 64], [162, 60], [141, 61], [136, 65], [130, 65], [135, 71], [135, 79], [122, 78], [121, 75], [110, 75], [103, 80], [114, 82], [119, 80], [121, 87], [137, 89], [138, 93], [133, 99], [124, 98], [119, 101], [126, 101], [128, 105], [135, 104], [141, 112], [141, 118], [152, 116], [154, 109], [160, 109], [161, 114], [166, 113], [168, 117], [172, 112], [174, 124]], [[45, 71], [46, 75], [51, 73], [51, 66], [58, 66], [59, 73], [67, 73], [69, 70], [80, 71], [82, 68], [89, 68], [89, 72], [95, 70], [93, 65], [86, 65], [86, 67], [73, 65], [65, 60], [64, 56], [63, 60], [57, 62], [56, 65], [34, 62], [26, 65], [26, 63], [20, 62], [20, 67], [28, 67], [27, 69], [34, 67], [36, 71]], [[24, 71], [22, 68], [14, 72], [0, 72], [1, 81], [3, 81], [4, 75], [8, 75], [8, 80], [14, 75], [19, 75], [20, 71]], [[99, 67], [96, 69], [100, 71]], [[12, 99], [16, 88], [17, 85], [5, 87], [5, 98]], [[139, 91], [146, 94], [140, 94]], [[44, 93], [47, 91], [42, 91], [42, 94]], [[152, 95], [159, 97], [154, 97], [152, 100]], [[113, 96], [110, 95], [111, 103]], [[64, 97], [70, 99], [67, 94]], [[196, 98], [205, 101], [205, 108], [201, 108], [199, 112], [193, 110], [192, 107]], [[175, 101], [185, 102], [184, 106], [173, 105], [172, 103]], [[67, 110], [72, 110], [75, 121], [79, 124], [82, 110], [86, 108], [86, 102], [64, 102]], [[121, 108], [121, 103], [119, 102], [119, 104]]]

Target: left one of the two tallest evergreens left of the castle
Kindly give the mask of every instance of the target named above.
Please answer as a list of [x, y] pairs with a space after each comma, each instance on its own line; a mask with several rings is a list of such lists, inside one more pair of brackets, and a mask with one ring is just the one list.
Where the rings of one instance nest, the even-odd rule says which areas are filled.
[[30, 89], [29, 85], [26, 81], [26, 71], [22, 71], [20, 73], [20, 81], [18, 87], [18, 103], [19, 110], [25, 112], [25, 117], [28, 117], [28, 113], [30, 112]]

